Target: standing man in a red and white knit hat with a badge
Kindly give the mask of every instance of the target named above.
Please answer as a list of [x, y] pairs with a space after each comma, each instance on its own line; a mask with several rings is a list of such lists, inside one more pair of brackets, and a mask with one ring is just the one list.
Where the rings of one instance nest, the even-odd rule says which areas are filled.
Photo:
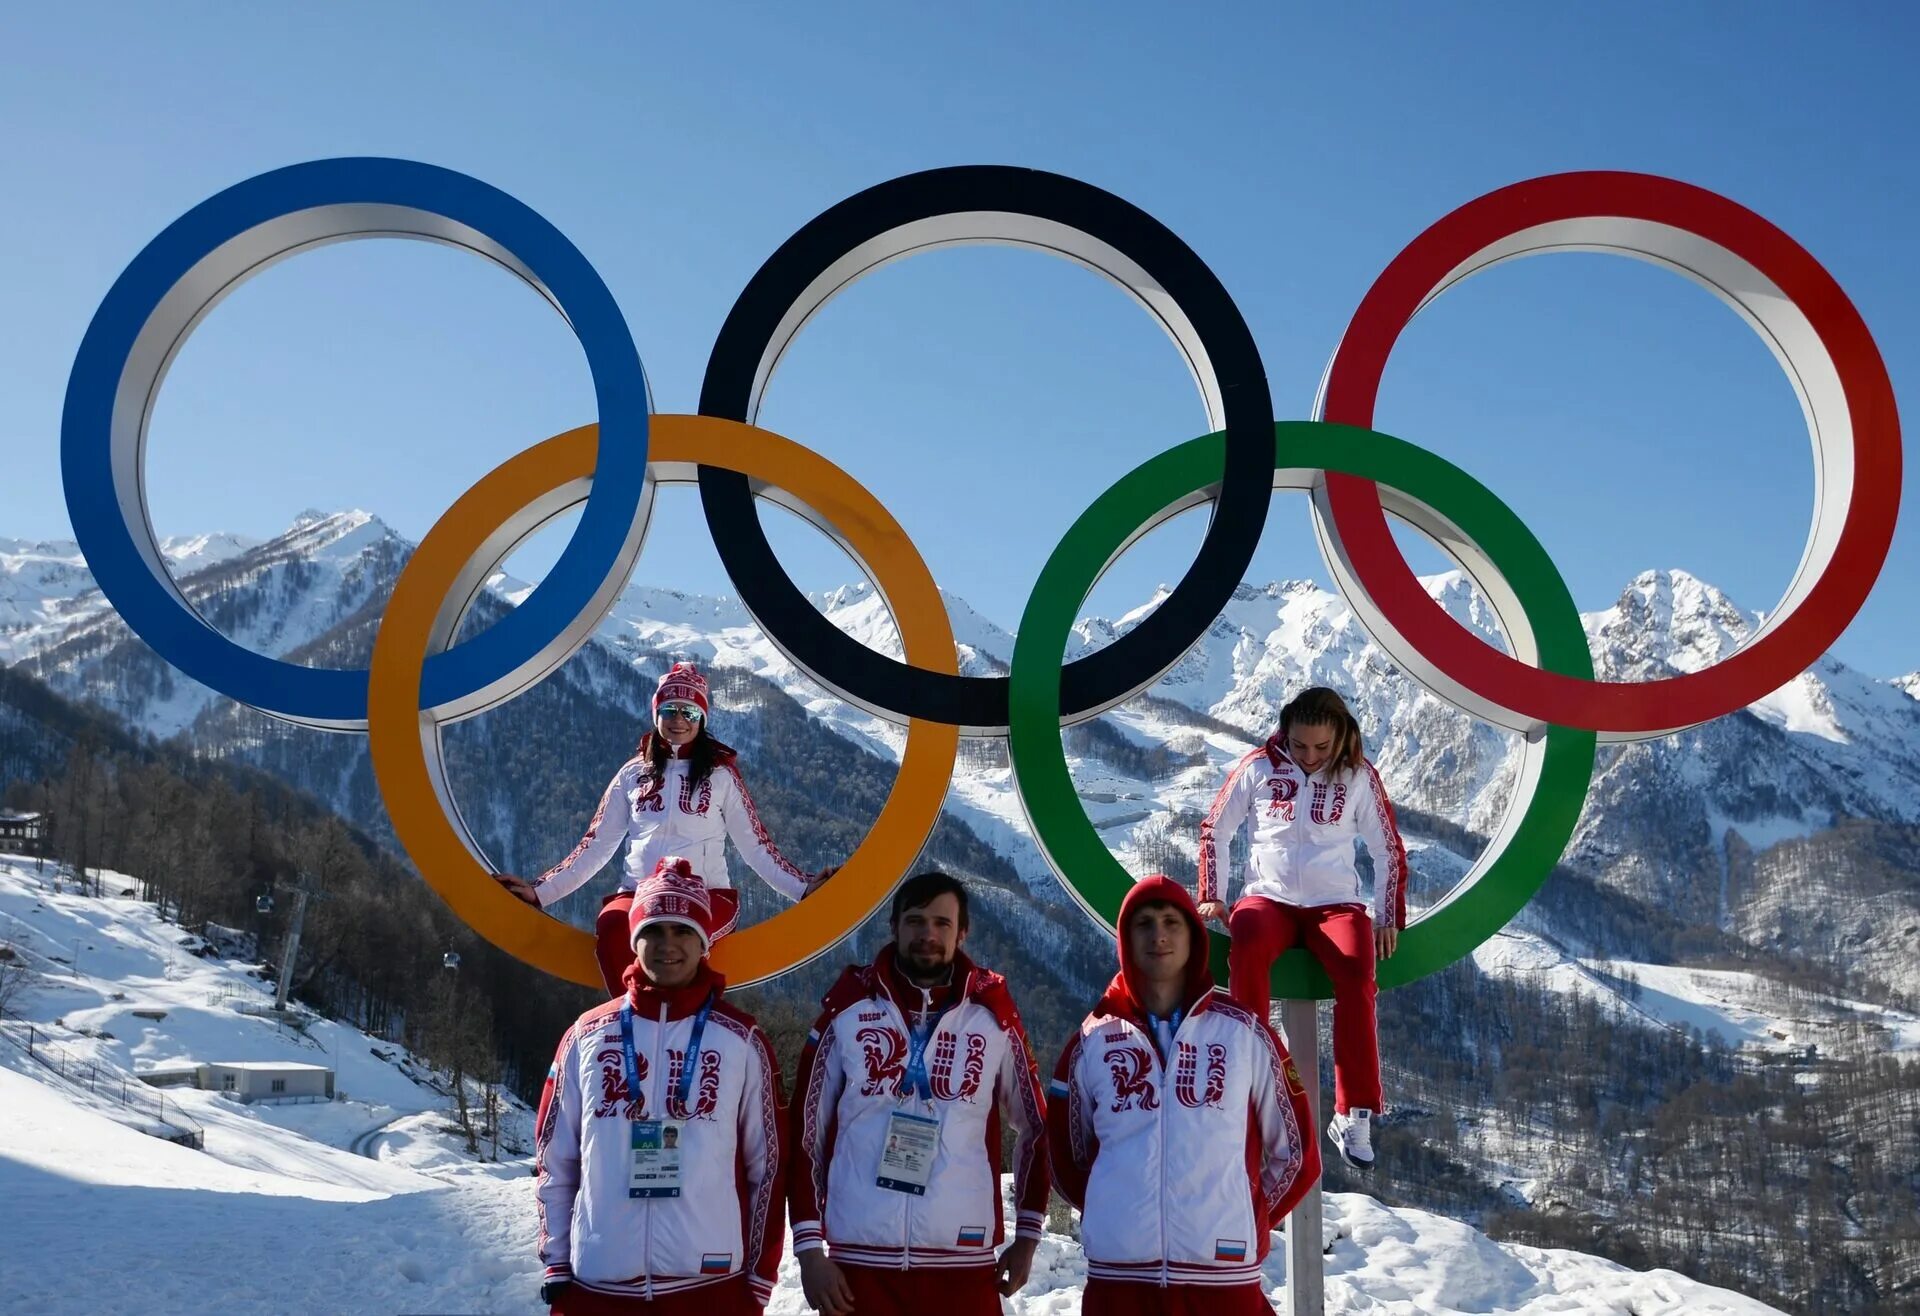
[[626, 993], [582, 1014], [540, 1097], [541, 1299], [559, 1316], [756, 1316], [780, 1266], [780, 1068], [707, 963], [707, 884], [634, 891]]

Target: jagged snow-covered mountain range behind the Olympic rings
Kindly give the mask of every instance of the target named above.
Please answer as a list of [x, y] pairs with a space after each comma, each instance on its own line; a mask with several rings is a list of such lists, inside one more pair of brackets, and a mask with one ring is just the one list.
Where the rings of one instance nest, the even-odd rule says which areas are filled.
[[[307, 513], [263, 544], [194, 536], [171, 542], [169, 551], [182, 588], [207, 619], [248, 647], [346, 663], [371, 642], [371, 605], [411, 546], [376, 517], [348, 511]], [[530, 590], [507, 576], [492, 584], [501, 603]], [[1461, 573], [1423, 584], [1457, 619], [1498, 640], [1484, 601]], [[899, 636], [870, 586], [845, 586], [814, 603], [845, 632], [899, 655]], [[1004, 672], [1012, 636], [956, 596], [948, 594], [947, 605], [962, 670]], [[1154, 605], [1158, 596], [1116, 619], [1083, 619], [1069, 657], [1110, 644]], [[1699, 670], [1730, 653], [1757, 621], [1680, 571], [1644, 573], [1611, 607], [1584, 617], [1596, 669], [1617, 680]], [[232, 749], [236, 736], [257, 736], [238, 728], [223, 711], [225, 699], [127, 640], [71, 544], [0, 542], [0, 659], [156, 736], [188, 732], [217, 751]], [[799, 672], [733, 597], [632, 586], [589, 649], [593, 657], [576, 659], [555, 682], [566, 699], [612, 703], [614, 717], [632, 719], [634, 707], [632, 692], [614, 688], [624, 684], [614, 678], [618, 667], [651, 670], [664, 657], [687, 657], [722, 674], [770, 682], [810, 719], [881, 759], [897, 759], [904, 740], [900, 728], [841, 703]], [[1140, 868], [1190, 865], [1196, 816], [1227, 767], [1308, 684], [1350, 695], [1369, 753], [1411, 822], [1421, 874], [1415, 903], [1438, 897], [1465, 870], [1471, 836], [1492, 832], [1509, 805], [1515, 742], [1405, 678], [1338, 596], [1300, 580], [1240, 586], [1208, 634], [1146, 695], [1066, 734], [1081, 797], [1116, 853]], [[1859, 918], [1845, 882], [1837, 890], [1832, 880], [1809, 886], [1795, 880], [1805, 863], [1786, 863], [1789, 843], [1832, 849], [1839, 824], [1855, 832], [1862, 822], [1920, 826], [1916, 695], [1920, 672], [1876, 680], [1824, 657], [1740, 715], [1659, 742], [1603, 749], [1567, 863], [1682, 924], [1718, 928], [1920, 993], [1920, 964], [1908, 943], [1920, 928], [1920, 882], [1910, 866], [1905, 878], [1895, 874], [1885, 891], [1891, 899], [1878, 901], [1872, 918]], [[716, 730], [728, 734], [724, 709]], [[948, 809], [1035, 891], [1058, 899], [1025, 836], [1004, 745], [966, 747]], [[511, 801], [492, 811], [511, 815]], [[1463, 843], [1425, 820], [1471, 836]], [[495, 836], [513, 832], [513, 818], [499, 816]], [[543, 863], [540, 855], [516, 859]], [[1557, 932], [1578, 943], [1580, 930]]]

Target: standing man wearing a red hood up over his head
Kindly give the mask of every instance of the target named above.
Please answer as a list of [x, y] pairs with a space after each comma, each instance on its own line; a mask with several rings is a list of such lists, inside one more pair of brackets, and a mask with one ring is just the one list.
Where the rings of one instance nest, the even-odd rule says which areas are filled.
[[1085, 1316], [1273, 1312], [1260, 1262], [1319, 1147], [1286, 1047], [1213, 986], [1179, 882], [1127, 891], [1119, 972], [1060, 1055], [1046, 1126], [1081, 1208]]

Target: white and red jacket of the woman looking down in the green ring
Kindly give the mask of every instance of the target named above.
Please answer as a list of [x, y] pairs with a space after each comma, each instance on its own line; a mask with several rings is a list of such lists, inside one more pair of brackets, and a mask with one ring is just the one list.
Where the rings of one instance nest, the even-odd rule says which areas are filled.
[[1281, 749], [1279, 736], [1227, 774], [1200, 824], [1200, 899], [1225, 901], [1225, 849], [1248, 826], [1242, 895], [1283, 905], [1365, 905], [1354, 841], [1373, 857], [1373, 924], [1407, 926], [1407, 847], [1380, 774], [1365, 759], [1348, 772], [1311, 776]]

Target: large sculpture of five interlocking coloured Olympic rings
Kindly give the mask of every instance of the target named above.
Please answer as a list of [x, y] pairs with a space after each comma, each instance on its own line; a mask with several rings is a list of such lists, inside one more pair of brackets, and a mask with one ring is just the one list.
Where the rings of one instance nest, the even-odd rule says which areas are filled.
[[[367, 670], [269, 659], [215, 632], [173, 582], [146, 511], [144, 444], [186, 334], [244, 279], [301, 250], [413, 236], [472, 250], [532, 284], [580, 338], [599, 423], [549, 438], [463, 494], [426, 534], [388, 601]], [[766, 386], [804, 323], [879, 265], [939, 246], [1000, 242], [1094, 269], [1154, 315], [1200, 386], [1212, 434], [1117, 480], [1048, 557], [1004, 678], [960, 676], [933, 576], [904, 530], [847, 473], [758, 428]], [[1676, 269], [1732, 305], [1780, 359], [1807, 413], [1816, 507], [1782, 603], [1720, 665], [1645, 684], [1594, 680], [1565, 582], [1524, 524], [1463, 471], [1371, 428], [1400, 330], [1446, 288], [1498, 261], [1603, 250]], [[321, 159], [202, 202], [115, 280], [81, 342], [61, 417], [75, 536], [104, 596], [161, 657], [271, 717], [365, 730], [394, 830], [422, 876], [476, 932], [561, 978], [595, 986], [591, 938], [488, 880], [445, 784], [440, 728], [518, 695], [593, 634], [639, 557], [653, 494], [697, 484], [722, 563], [795, 667], [908, 728], [900, 772], [870, 836], [803, 905], [716, 947], [735, 986], [795, 968], [872, 914], [925, 845], [962, 734], [1006, 736], [1035, 840], [1068, 891], [1112, 928], [1131, 878], [1087, 818], [1060, 728], [1158, 680], [1225, 607], [1275, 490], [1311, 494], [1329, 569], [1367, 634], [1438, 697], [1523, 734], [1519, 790], [1467, 876], [1423, 911], [1380, 986], [1434, 972], [1500, 930], [1572, 834], [1596, 745], [1732, 713], [1812, 663], [1885, 561], [1899, 513], [1893, 388], [1872, 334], [1789, 236], [1713, 192], [1634, 173], [1567, 173], [1490, 192], [1415, 238], [1361, 300], [1313, 403], [1275, 423], [1252, 332], [1206, 263], [1135, 206], [1087, 183], [1000, 165], [933, 169], [852, 196], [760, 267], [714, 342], [701, 415], [651, 415], [632, 334], [586, 257], [515, 198], [403, 159]], [[839, 632], [799, 592], [760, 528], [770, 498], [833, 536], [874, 580], [904, 659]], [[453, 644], [493, 569], [582, 505], [553, 571], [503, 621]], [[1212, 503], [1192, 569], [1137, 628], [1062, 663], [1100, 573], [1140, 534]], [[1434, 603], [1386, 513], [1469, 573], [1500, 619], [1501, 653]], [[1215, 955], [1223, 939], [1215, 936]], [[1275, 993], [1325, 997], [1319, 966], [1281, 957]]]

